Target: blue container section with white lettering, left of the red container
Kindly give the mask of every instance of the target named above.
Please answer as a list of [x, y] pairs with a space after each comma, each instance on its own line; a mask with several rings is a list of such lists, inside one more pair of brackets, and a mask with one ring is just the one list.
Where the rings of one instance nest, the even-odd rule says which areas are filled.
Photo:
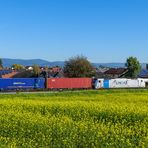
[[0, 89], [42, 89], [45, 88], [44, 78], [0, 78]]

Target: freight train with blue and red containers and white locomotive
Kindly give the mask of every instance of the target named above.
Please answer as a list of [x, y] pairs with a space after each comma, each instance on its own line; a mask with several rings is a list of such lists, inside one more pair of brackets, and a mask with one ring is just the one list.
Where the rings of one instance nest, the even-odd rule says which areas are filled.
[[0, 90], [145, 88], [148, 79], [0, 78]]

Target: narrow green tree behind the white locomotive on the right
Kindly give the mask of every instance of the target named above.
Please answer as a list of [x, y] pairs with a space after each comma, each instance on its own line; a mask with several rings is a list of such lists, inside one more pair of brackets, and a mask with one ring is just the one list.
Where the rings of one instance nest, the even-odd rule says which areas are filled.
[[136, 78], [141, 70], [140, 62], [136, 57], [127, 58], [125, 66], [128, 68], [127, 76], [130, 78]]

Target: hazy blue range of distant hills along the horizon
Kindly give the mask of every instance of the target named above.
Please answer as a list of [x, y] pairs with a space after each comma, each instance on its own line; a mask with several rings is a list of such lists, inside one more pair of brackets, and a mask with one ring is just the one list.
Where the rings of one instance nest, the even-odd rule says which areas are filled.
[[[3, 65], [4, 67], [11, 67], [13, 64], [21, 64], [23, 66], [31, 66], [34, 64], [40, 65], [40, 66], [64, 66], [64, 61], [53, 61], [49, 62], [47, 60], [42, 60], [42, 59], [29, 59], [29, 60], [24, 60], [24, 59], [8, 59], [8, 58], [3, 58]], [[92, 63], [93, 66], [99, 67], [100, 65], [104, 67], [111, 67], [111, 68], [118, 68], [118, 67], [125, 67], [125, 63]], [[145, 68], [146, 64], [142, 63], [142, 67]]]

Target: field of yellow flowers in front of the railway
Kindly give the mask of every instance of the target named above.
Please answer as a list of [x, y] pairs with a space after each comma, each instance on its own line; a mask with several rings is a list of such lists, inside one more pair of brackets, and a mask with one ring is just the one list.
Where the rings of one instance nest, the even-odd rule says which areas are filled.
[[147, 147], [148, 90], [0, 94], [0, 147]]

